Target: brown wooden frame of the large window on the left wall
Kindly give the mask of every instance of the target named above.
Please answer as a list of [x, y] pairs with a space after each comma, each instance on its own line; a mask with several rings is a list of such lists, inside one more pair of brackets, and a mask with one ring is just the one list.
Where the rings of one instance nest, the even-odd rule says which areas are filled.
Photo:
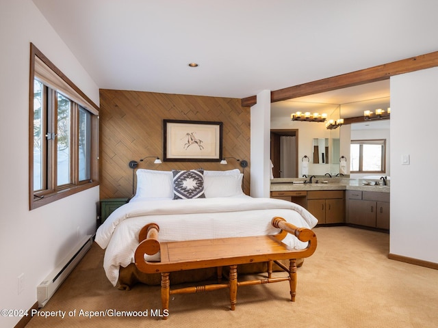
[[[55, 83], [42, 81], [44, 89], [44, 112], [51, 113], [53, 118], [44, 119], [44, 135], [47, 131], [57, 133], [57, 92], [68, 98], [70, 102], [70, 183], [57, 186], [57, 154], [56, 142], [44, 147], [42, 172], [44, 182], [40, 191], [34, 191], [34, 79], [36, 78], [36, 59], [42, 62], [50, 74], [57, 79]], [[50, 204], [69, 195], [79, 193], [99, 185], [99, 107], [65, 74], [63, 74], [34, 44], [30, 46], [30, 79], [29, 79], [29, 210]], [[37, 77], [38, 79], [38, 77]], [[40, 80], [41, 81], [41, 80]], [[61, 87], [56, 87], [61, 85]], [[79, 181], [79, 106], [90, 113], [90, 180]], [[44, 114], [46, 115], [46, 114]], [[52, 140], [49, 140], [52, 141]], [[53, 141], [56, 141], [53, 140]], [[48, 141], [44, 141], [48, 143]]]

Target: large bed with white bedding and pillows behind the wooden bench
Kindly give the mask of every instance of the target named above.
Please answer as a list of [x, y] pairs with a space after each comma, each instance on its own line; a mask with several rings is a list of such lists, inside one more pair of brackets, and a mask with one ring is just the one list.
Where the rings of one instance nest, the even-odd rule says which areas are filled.
[[[149, 223], [159, 226], [159, 241], [163, 242], [276, 234], [279, 229], [270, 224], [273, 217], [283, 217], [294, 226], [309, 229], [318, 223], [298, 204], [245, 195], [239, 169], [172, 172], [138, 169], [136, 175], [136, 195], [114, 210], [98, 228], [95, 238], [105, 249], [105, 274], [119, 289], [129, 289], [136, 282], [160, 282], [159, 274], [140, 273], [134, 264], [138, 234]], [[294, 249], [307, 246], [292, 235], [283, 243]], [[159, 261], [159, 253], [146, 260]], [[263, 266], [256, 264], [242, 270], [265, 270], [257, 265]], [[175, 274], [171, 279], [178, 284], [209, 279], [216, 275], [216, 269]]]

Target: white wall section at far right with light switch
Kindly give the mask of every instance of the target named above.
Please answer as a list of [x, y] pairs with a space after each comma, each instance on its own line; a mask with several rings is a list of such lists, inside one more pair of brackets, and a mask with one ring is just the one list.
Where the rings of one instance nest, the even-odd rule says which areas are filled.
[[[435, 263], [437, 104], [438, 68], [391, 77], [390, 252]], [[402, 165], [403, 154], [409, 154], [410, 165]]]

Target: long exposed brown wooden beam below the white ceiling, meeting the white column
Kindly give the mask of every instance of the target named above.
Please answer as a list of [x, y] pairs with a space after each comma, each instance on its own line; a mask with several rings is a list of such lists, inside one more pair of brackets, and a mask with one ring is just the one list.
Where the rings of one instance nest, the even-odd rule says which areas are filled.
[[[284, 89], [271, 92], [271, 102], [309, 96], [310, 94], [320, 94], [344, 87], [354, 87], [365, 83], [383, 81], [398, 74], [424, 70], [438, 66], [438, 51], [419, 55], [407, 59], [393, 61], [389, 64], [365, 68], [335, 77], [328, 77], [309, 83], [285, 87]], [[257, 103], [257, 96], [250, 96], [242, 99], [242, 106], [250, 107]]]

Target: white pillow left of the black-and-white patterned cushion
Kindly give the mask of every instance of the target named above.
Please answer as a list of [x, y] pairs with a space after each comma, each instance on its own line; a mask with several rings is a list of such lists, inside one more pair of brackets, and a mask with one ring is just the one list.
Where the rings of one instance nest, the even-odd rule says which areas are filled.
[[173, 198], [172, 172], [138, 169], [136, 197]]

